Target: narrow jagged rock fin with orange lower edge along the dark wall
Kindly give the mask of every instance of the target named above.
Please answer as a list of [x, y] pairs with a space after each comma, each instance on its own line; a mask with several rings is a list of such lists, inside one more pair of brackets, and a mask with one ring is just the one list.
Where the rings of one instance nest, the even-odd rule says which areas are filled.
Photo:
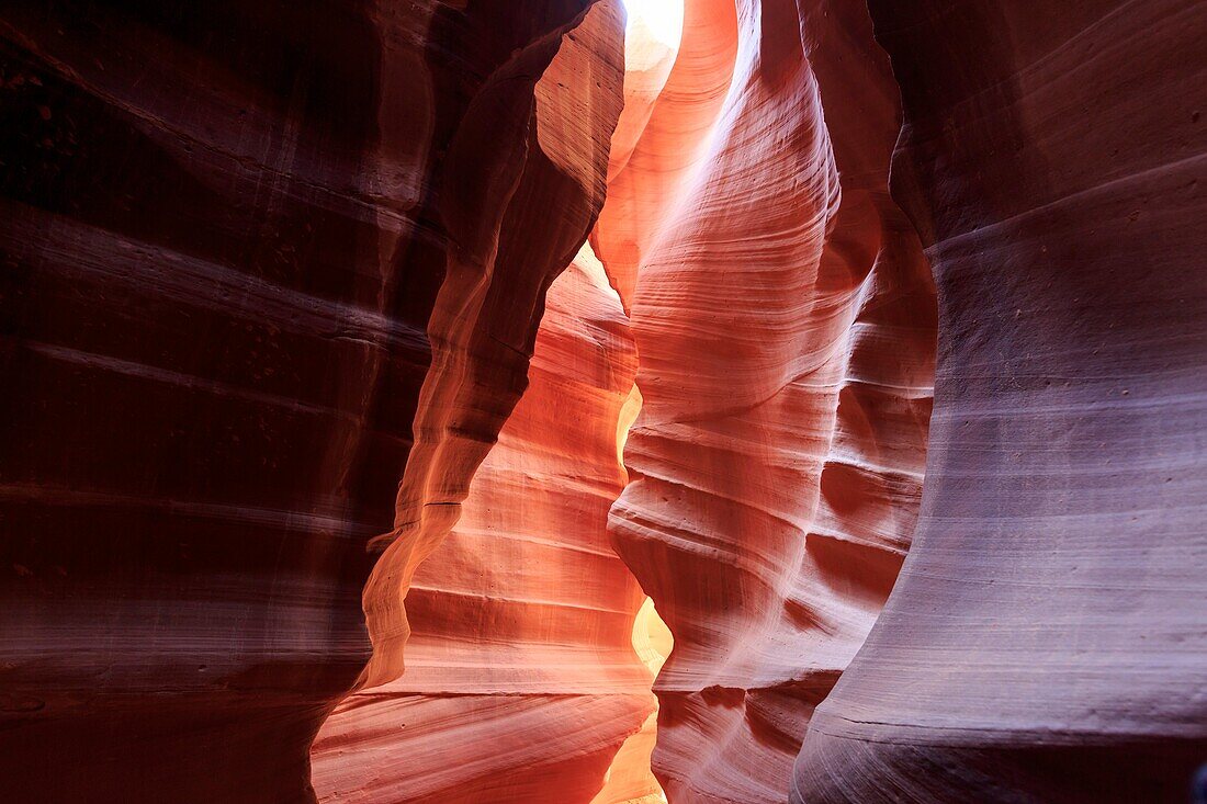
[[[365, 589], [369, 686], [403, 670], [410, 579], [460, 517], [474, 470], [523, 392], [546, 289], [604, 204], [622, 101], [618, 2], [596, 4], [568, 33], [501, 52], [450, 138], [441, 220], [455, 245], [439, 255], [447, 275], [427, 326], [433, 363], [395, 529], [375, 540], [385, 552]], [[478, 45], [497, 47], [491, 25], [527, 24], [515, 8], [483, 13]], [[524, 135], [501, 138], [508, 127]]]

